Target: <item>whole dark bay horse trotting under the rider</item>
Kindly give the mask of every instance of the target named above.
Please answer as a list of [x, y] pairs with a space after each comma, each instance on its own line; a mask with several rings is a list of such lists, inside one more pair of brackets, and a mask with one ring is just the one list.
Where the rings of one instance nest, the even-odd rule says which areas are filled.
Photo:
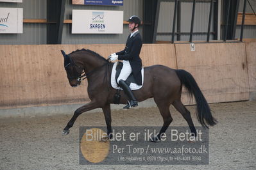
[[[96, 108], [102, 108], [107, 123], [107, 134], [111, 138], [111, 111], [110, 104], [114, 102], [116, 89], [110, 84], [110, 75], [114, 63], [110, 63], [96, 52], [91, 50], [76, 50], [71, 54], [65, 54], [64, 66], [67, 72], [69, 84], [73, 87], [80, 85], [83, 72], [88, 80], [88, 95], [90, 103], [76, 109], [73, 117], [64, 128], [63, 134], [69, 134], [69, 128], [73, 127], [74, 121], [78, 116], [86, 111]], [[155, 103], [162, 115], [164, 125], [160, 129], [156, 140], [159, 140], [161, 134], [166, 132], [167, 127], [173, 121], [169, 107], [172, 104], [183, 118], [189, 124], [191, 134], [196, 135], [196, 128], [191, 119], [191, 113], [185, 108], [181, 102], [182, 86], [185, 86], [189, 92], [189, 96], [196, 100], [196, 116], [203, 127], [213, 126], [216, 120], [212, 117], [209, 105], [203, 97], [198, 84], [189, 72], [185, 70], [174, 70], [167, 66], [153, 65], [144, 68], [144, 85], [141, 89], [133, 91], [139, 102], [148, 98], [154, 98]], [[126, 104], [128, 98], [121, 91], [121, 104]]]

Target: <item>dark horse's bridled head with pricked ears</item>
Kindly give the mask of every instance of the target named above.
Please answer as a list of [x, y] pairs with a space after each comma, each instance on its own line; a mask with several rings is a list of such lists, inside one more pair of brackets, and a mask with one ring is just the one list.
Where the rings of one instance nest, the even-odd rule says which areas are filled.
[[64, 68], [67, 72], [69, 84], [72, 87], [77, 87], [81, 84], [81, 73], [83, 72], [83, 66], [80, 66], [78, 63], [74, 63], [72, 57], [65, 54], [63, 50], [61, 50], [61, 52], [64, 56]]

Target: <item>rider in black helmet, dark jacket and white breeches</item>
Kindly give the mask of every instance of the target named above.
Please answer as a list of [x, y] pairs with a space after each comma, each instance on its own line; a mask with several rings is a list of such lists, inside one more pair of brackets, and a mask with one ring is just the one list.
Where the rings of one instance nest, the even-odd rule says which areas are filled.
[[123, 68], [117, 82], [119, 86], [123, 88], [124, 93], [129, 98], [128, 105], [126, 105], [124, 109], [138, 106], [136, 98], [134, 97], [128, 84], [125, 82], [129, 75], [133, 73], [135, 82], [139, 86], [142, 85], [142, 62], [141, 58], [139, 57], [142, 47], [142, 39], [138, 29], [141, 24], [141, 19], [138, 16], [133, 15], [130, 17], [128, 22], [131, 34], [127, 38], [126, 47], [124, 50], [111, 54], [109, 57], [110, 61], [115, 61], [116, 59], [123, 60]]

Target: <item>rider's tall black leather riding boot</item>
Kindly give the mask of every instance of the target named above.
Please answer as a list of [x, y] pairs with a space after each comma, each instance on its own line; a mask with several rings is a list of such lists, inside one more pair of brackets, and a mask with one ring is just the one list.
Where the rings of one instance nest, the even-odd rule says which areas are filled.
[[130, 87], [128, 86], [128, 84], [126, 84], [125, 81], [120, 80], [119, 81], [119, 86], [121, 88], [123, 88], [124, 93], [126, 94], [126, 96], [129, 98], [128, 101], [128, 105], [124, 106], [124, 109], [130, 109], [130, 107], [136, 107], [138, 106], [138, 102], [136, 100], [136, 98], [134, 97], [132, 90], [130, 89]]

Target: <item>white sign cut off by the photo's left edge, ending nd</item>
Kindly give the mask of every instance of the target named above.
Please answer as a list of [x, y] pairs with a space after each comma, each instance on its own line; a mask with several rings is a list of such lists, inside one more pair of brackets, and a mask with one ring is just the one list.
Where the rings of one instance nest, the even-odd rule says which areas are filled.
[[22, 33], [23, 29], [22, 8], [0, 8], [0, 33]]

